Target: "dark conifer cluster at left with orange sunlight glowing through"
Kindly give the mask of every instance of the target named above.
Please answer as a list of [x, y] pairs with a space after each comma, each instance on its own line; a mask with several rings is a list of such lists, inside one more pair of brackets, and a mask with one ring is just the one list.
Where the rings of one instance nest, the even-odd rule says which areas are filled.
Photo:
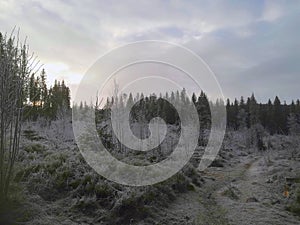
[[50, 88], [46, 84], [46, 72], [32, 74], [25, 87], [24, 118], [36, 120], [39, 117], [57, 119], [70, 110], [70, 89], [62, 80], [55, 80]]

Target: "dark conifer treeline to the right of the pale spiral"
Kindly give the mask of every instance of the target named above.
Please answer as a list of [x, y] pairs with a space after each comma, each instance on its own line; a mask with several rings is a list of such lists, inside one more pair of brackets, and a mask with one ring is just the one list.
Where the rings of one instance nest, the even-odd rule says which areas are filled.
[[282, 103], [278, 96], [266, 104], [258, 103], [254, 94], [245, 101], [227, 100], [227, 125], [235, 130], [261, 124], [270, 134], [300, 133], [300, 100]]

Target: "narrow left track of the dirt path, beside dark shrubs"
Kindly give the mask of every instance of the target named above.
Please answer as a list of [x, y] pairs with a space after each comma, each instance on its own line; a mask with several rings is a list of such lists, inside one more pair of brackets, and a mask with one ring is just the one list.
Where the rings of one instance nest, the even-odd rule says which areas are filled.
[[180, 194], [177, 199], [156, 215], [155, 224], [163, 225], [228, 225], [227, 210], [219, 205], [218, 191], [233, 179], [242, 176], [248, 167], [208, 168], [199, 172], [205, 184], [195, 191]]

